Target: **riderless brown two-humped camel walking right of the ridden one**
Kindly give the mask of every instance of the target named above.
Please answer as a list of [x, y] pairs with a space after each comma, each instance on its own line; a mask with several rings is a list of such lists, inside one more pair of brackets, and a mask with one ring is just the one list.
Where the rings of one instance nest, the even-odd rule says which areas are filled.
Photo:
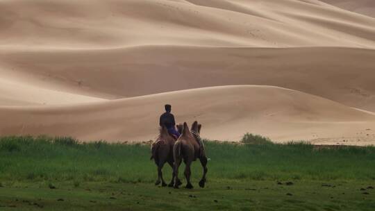
[[181, 131], [181, 136], [178, 138], [173, 147], [174, 155], [174, 178], [175, 183], [174, 187], [178, 188], [181, 185], [181, 180], [178, 178], [178, 167], [183, 160], [185, 162], [185, 178], [188, 182], [186, 188], [193, 188], [192, 183], [190, 183], [190, 165], [197, 158], [201, 161], [203, 167], [203, 176], [199, 181], [199, 186], [204, 187], [206, 183], [206, 174], [207, 174], [207, 157], [204, 150], [204, 145], [201, 140], [199, 133], [201, 132], [201, 124], [198, 124], [197, 121], [194, 121], [192, 124], [192, 130], [189, 130], [188, 124], [183, 123], [183, 128]]

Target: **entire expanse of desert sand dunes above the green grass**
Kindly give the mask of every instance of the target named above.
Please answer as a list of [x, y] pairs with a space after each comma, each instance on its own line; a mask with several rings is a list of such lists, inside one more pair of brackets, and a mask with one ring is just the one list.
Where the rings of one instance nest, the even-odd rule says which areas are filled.
[[[375, 144], [372, 1], [0, 0], [0, 135]], [[84, 8], [84, 9], [83, 9]]]

